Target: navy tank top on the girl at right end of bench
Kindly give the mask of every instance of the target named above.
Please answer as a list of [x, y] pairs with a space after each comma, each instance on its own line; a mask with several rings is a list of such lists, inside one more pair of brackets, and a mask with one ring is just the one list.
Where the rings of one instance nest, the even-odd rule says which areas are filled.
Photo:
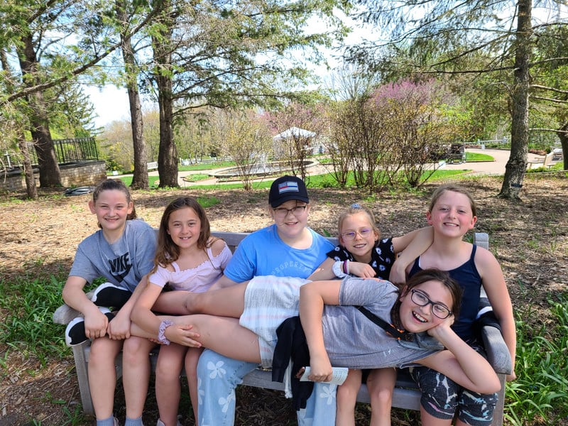
[[[474, 339], [473, 324], [479, 308], [479, 292], [481, 290], [481, 276], [474, 262], [476, 250], [477, 246], [474, 245], [469, 261], [451, 271], [447, 271], [449, 276], [454, 278], [461, 285], [461, 288], [464, 289], [464, 294], [461, 296], [459, 317], [454, 321], [452, 329], [466, 342]], [[418, 271], [422, 271], [420, 257], [415, 259], [409, 275], [413, 276]]]

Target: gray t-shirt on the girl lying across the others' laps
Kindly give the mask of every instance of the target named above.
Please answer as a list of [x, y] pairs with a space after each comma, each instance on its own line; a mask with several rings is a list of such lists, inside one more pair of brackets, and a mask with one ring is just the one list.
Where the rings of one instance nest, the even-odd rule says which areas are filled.
[[[339, 306], [325, 305], [322, 317], [324, 344], [332, 366], [349, 368], [402, 368], [442, 349], [436, 340], [421, 333], [422, 341], [436, 349], [401, 342], [365, 317], [356, 306], [363, 305], [386, 322], [398, 297], [388, 281], [345, 278], [339, 291]], [[346, 306], [352, 305], [352, 306]]]

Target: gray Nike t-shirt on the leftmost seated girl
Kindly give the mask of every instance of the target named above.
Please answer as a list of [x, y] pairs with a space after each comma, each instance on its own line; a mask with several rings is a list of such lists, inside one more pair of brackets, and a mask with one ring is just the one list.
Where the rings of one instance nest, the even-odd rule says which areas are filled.
[[127, 220], [118, 241], [109, 244], [99, 229], [81, 241], [69, 276], [92, 283], [103, 277], [109, 283], [131, 292], [153, 267], [156, 232], [140, 219]]

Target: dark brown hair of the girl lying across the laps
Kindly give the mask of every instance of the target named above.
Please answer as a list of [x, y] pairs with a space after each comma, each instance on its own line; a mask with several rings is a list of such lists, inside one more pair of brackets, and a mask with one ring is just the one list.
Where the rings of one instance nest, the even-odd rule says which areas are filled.
[[[439, 281], [444, 285], [445, 288], [449, 290], [449, 294], [452, 295], [452, 315], [454, 315], [454, 319], [459, 317], [459, 307], [461, 306], [461, 295], [464, 293], [461, 286], [458, 284], [454, 278], [449, 276], [447, 271], [440, 271], [437, 268], [429, 268], [423, 269], [422, 271], [418, 271], [412, 277], [408, 278], [406, 281], [404, 292], [400, 292], [400, 297], [404, 297], [408, 295], [408, 292], [415, 288], [417, 285], [425, 283], [427, 281]], [[391, 319], [396, 327], [402, 328], [402, 324], [400, 324], [400, 297], [397, 298], [393, 308], [391, 309]]]

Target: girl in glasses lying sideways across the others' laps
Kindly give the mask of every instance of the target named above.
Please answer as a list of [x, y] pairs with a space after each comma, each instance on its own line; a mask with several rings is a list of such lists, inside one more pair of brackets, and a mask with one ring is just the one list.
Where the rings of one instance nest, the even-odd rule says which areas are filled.
[[[310, 349], [310, 380], [329, 381], [332, 366], [382, 368], [416, 363], [441, 371], [472, 391], [491, 393], [501, 387], [493, 368], [450, 329], [460, 292], [447, 273], [435, 269], [416, 274], [400, 293], [388, 281], [375, 278], [310, 282], [256, 277], [249, 283], [193, 295], [190, 310], [219, 317], [162, 318], [174, 322], [165, 328], [165, 337], [172, 342], [204, 346], [267, 366], [277, 327], [299, 310]], [[379, 327], [357, 309], [360, 305], [387, 326], [394, 325], [387, 330]], [[187, 329], [188, 324], [192, 329]], [[405, 338], [392, 337], [393, 329], [402, 330]], [[156, 338], [134, 327], [132, 332]], [[441, 345], [432, 344], [432, 337]], [[444, 346], [448, 350], [442, 350]]]

